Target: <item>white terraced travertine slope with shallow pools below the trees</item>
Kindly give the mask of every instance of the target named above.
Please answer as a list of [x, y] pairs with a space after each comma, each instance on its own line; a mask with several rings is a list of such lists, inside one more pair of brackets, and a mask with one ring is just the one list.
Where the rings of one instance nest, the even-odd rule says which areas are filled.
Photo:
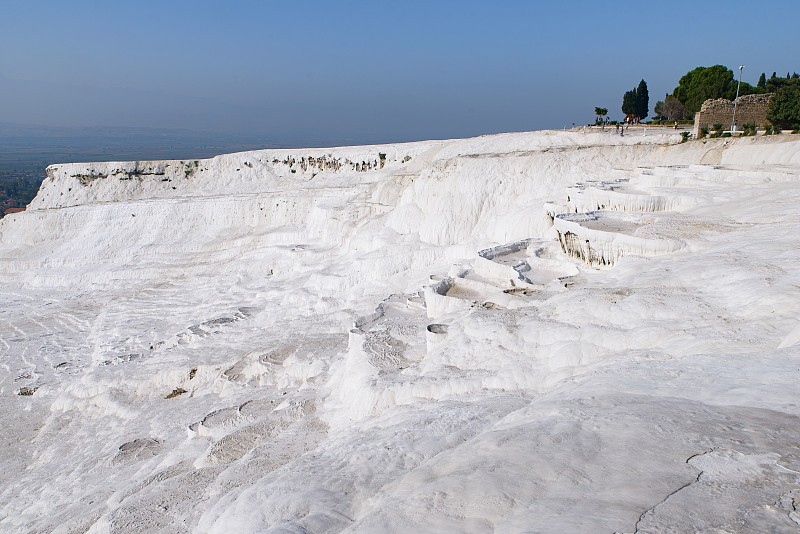
[[796, 137], [52, 166], [0, 530], [797, 532]]

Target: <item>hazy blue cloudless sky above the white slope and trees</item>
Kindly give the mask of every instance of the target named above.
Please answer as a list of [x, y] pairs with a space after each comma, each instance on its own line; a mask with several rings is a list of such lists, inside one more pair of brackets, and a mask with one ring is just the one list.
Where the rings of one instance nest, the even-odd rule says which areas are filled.
[[359, 142], [650, 108], [697, 66], [800, 71], [800, 1], [0, 0], [0, 122]]

